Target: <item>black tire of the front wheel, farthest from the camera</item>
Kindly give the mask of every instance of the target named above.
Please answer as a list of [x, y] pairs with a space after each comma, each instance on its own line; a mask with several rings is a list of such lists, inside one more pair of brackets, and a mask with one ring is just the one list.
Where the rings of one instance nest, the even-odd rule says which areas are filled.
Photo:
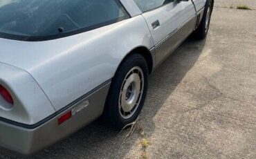
[[[210, 8], [209, 19], [207, 19], [208, 8]], [[213, 9], [213, 1], [212, 0], [206, 1], [205, 10], [203, 11], [203, 18], [201, 20], [201, 24], [199, 25], [198, 28], [196, 28], [196, 30], [193, 33], [193, 37], [195, 37], [196, 39], [205, 39], [205, 37], [207, 36], [209, 26], [210, 26], [210, 19], [212, 16], [212, 9]], [[207, 23], [207, 21], [208, 21], [208, 23]]]

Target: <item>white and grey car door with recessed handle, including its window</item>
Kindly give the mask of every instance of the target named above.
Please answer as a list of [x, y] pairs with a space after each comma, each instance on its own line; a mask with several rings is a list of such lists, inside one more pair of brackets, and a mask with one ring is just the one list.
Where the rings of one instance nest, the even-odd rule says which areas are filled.
[[191, 0], [134, 0], [147, 21], [156, 48], [156, 64], [190, 35], [196, 24]]

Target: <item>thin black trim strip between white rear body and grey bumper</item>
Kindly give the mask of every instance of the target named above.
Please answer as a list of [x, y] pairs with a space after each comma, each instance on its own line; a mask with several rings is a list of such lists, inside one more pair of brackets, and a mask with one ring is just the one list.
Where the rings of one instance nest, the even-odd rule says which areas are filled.
[[52, 115], [48, 116], [44, 120], [41, 120], [41, 121], [37, 122], [36, 124], [23, 124], [23, 123], [20, 123], [20, 122], [15, 122], [15, 121], [8, 120], [6, 118], [1, 118], [1, 117], [0, 117], [0, 121], [1, 122], [6, 122], [8, 124], [15, 125], [17, 127], [22, 127], [22, 128], [26, 128], [26, 129], [35, 129], [37, 127], [40, 127], [42, 124], [48, 122], [49, 120], [55, 118], [57, 115], [60, 115], [64, 111], [70, 109], [72, 106], [74, 106], [75, 104], [77, 104], [80, 101], [84, 100], [86, 97], [89, 97], [90, 95], [92, 95], [96, 91], [100, 90], [100, 88], [102, 88], [104, 86], [107, 86], [107, 84], [109, 84], [110, 82], [111, 82], [111, 79], [107, 80], [106, 82], [104, 82], [104, 83], [100, 84], [99, 86], [93, 88], [93, 90], [89, 91], [89, 93], [86, 93], [85, 95], [82, 95], [82, 97], [79, 97], [77, 100], [71, 102], [70, 104], [68, 104], [64, 108], [60, 109], [59, 111], [56, 111]]

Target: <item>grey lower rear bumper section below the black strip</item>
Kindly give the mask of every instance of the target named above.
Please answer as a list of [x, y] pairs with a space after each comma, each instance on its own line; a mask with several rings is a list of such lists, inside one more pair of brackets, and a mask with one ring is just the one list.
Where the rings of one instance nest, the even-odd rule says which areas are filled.
[[[0, 121], [0, 146], [18, 153], [31, 154], [65, 138], [102, 114], [109, 86], [110, 82], [105, 83], [93, 93], [81, 97], [80, 100], [57, 112], [52, 118], [46, 119], [36, 127], [26, 128]], [[75, 113], [66, 122], [58, 124], [58, 119], [63, 114], [76, 109], [88, 100], [88, 106]]]

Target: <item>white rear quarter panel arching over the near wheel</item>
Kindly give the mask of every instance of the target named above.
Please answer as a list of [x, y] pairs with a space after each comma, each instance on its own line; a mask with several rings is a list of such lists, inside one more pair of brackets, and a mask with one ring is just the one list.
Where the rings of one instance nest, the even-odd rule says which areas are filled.
[[141, 15], [71, 37], [0, 44], [0, 61], [28, 71], [56, 111], [111, 79], [134, 48], [154, 46]]

